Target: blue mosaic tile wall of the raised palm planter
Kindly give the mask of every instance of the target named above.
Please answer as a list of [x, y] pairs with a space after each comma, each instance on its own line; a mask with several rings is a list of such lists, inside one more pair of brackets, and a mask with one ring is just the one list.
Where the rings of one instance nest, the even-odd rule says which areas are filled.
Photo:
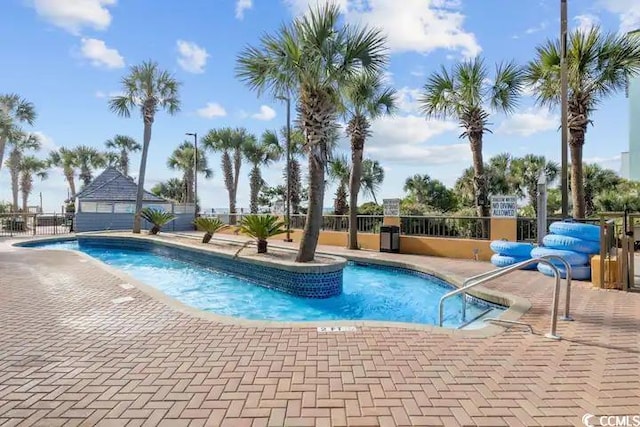
[[306, 298], [329, 298], [342, 293], [342, 270], [327, 273], [305, 273], [254, 264], [242, 259], [229, 259], [213, 252], [176, 248], [162, 242], [120, 237], [79, 237], [81, 246], [126, 248], [186, 261], [222, 271], [252, 283]]

